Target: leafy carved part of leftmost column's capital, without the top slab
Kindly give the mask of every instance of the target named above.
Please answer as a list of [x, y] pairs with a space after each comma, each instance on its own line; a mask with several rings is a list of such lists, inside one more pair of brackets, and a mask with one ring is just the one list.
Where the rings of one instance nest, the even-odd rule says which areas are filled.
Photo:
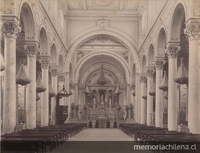
[[6, 34], [6, 37], [17, 38], [19, 32], [21, 32], [21, 27], [19, 26], [19, 21], [5, 21], [2, 24], [1, 32], [2, 34]]

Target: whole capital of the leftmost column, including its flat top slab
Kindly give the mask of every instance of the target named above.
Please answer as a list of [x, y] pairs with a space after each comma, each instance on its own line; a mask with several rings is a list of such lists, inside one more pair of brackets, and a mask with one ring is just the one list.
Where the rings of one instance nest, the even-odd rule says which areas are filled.
[[17, 38], [19, 32], [21, 32], [21, 27], [19, 21], [14, 16], [2, 17], [1, 32], [4, 37]]

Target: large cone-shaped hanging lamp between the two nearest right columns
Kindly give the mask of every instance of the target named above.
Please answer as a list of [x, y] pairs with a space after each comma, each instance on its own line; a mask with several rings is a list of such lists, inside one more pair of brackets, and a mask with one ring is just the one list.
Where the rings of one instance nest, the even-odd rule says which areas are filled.
[[180, 66], [178, 67], [177, 76], [174, 81], [178, 84], [188, 83], [188, 71], [183, 63], [183, 58], [180, 58]]

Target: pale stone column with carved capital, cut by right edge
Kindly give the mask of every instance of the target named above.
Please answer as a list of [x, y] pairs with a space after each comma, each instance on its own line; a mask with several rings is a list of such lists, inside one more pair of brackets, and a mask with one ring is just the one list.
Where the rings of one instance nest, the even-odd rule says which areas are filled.
[[200, 134], [200, 20], [188, 20], [185, 34], [189, 38], [188, 128]]

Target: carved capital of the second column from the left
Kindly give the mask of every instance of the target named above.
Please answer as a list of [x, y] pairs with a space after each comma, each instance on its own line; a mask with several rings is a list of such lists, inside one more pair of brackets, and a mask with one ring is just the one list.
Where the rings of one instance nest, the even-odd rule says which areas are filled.
[[25, 42], [24, 50], [28, 57], [36, 57], [39, 52], [38, 43], [36, 41]]

